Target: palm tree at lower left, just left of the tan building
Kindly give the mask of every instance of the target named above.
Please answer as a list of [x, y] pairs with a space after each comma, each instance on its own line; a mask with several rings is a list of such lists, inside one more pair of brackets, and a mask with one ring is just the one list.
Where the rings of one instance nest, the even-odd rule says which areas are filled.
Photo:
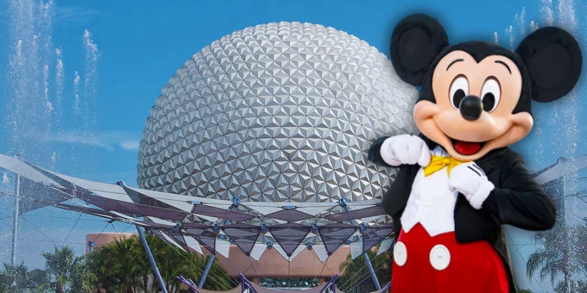
[[53, 253], [43, 253], [45, 257], [46, 271], [49, 273], [55, 293], [63, 293], [63, 287], [73, 280], [73, 272], [79, 263], [83, 262], [83, 257], [76, 257], [72, 248], [55, 246]]

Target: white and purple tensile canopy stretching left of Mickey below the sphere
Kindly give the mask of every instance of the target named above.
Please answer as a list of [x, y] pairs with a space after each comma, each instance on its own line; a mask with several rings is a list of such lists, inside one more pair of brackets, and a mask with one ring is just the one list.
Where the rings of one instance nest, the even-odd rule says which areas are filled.
[[312, 249], [323, 262], [349, 245], [352, 258], [392, 244], [393, 224], [380, 200], [347, 202], [247, 202], [209, 199], [95, 182], [62, 175], [0, 155], [0, 169], [19, 176], [22, 212], [43, 206], [83, 212], [142, 226], [184, 251], [229, 257], [230, 244], [258, 260], [274, 248], [291, 261]]

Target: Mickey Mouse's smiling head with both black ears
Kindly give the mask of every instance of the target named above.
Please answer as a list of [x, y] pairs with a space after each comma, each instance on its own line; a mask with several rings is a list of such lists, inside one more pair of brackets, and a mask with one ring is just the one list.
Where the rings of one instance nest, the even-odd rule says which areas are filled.
[[419, 130], [460, 161], [507, 147], [532, 129], [531, 100], [565, 96], [579, 79], [581, 50], [565, 30], [536, 30], [515, 52], [473, 41], [449, 46], [436, 19], [407, 16], [393, 30], [392, 64], [420, 86]]

